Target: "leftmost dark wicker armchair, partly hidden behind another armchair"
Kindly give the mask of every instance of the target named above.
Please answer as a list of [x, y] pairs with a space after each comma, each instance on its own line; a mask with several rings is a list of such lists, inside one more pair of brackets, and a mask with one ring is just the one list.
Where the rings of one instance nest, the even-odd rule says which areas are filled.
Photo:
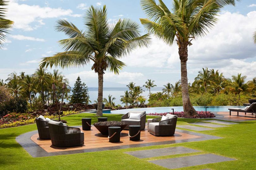
[[[36, 117], [35, 120], [36, 120], [36, 126], [37, 126], [37, 131], [39, 134], [39, 138], [40, 139], [51, 139], [48, 122], [40, 120], [40, 119], [38, 119], [38, 117]], [[57, 121], [57, 120], [53, 120], [53, 121]]]

